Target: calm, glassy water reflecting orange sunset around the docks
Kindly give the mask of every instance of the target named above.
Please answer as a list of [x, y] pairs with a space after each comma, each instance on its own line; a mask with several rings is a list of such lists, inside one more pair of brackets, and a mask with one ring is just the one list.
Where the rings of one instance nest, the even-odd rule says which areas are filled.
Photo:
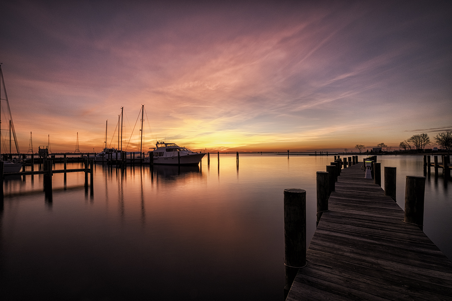
[[[363, 156], [359, 156], [362, 160]], [[333, 156], [235, 154], [199, 167], [97, 165], [84, 174], [5, 181], [0, 212], [2, 296], [7, 300], [282, 300], [283, 190], [307, 190], [307, 236], [315, 231], [315, 171]], [[422, 156], [379, 156], [405, 176]], [[433, 159], [432, 159], [433, 162]], [[80, 168], [78, 163], [68, 168]], [[38, 168], [36, 165], [35, 170]], [[62, 165], [56, 164], [56, 169]], [[433, 170], [433, 169], [432, 169]], [[434, 175], [434, 173], [433, 173]], [[441, 171], [440, 171], [441, 175]], [[452, 258], [451, 182], [426, 184], [424, 232]]]

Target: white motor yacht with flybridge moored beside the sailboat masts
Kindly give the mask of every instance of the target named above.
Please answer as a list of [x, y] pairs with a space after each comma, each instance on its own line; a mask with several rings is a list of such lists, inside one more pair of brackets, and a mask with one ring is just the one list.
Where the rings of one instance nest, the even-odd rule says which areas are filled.
[[205, 153], [198, 153], [174, 143], [157, 142], [153, 151], [149, 151], [144, 159], [145, 163], [166, 165], [198, 165]]

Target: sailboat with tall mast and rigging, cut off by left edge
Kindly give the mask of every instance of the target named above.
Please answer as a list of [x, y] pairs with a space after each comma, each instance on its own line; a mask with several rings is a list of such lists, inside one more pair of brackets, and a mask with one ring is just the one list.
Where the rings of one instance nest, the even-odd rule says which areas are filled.
[[[9, 109], [9, 102], [8, 102], [8, 96], [6, 94], [6, 87], [5, 87], [5, 79], [3, 78], [3, 71], [1, 69], [1, 63], [0, 63], [0, 80], [1, 80], [1, 86], [0, 86], [0, 107], [5, 106], [5, 103], [2, 103], [2, 101], [6, 102], [6, 108], [3, 111], [3, 113], [6, 116], [6, 119], [8, 120], [8, 129], [4, 130], [4, 131], [8, 131], [9, 132], [9, 153], [12, 153], [12, 148], [11, 148], [11, 141], [12, 139], [14, 139], [14, 144], [16, 147], [16, 151], [17, 153], [19, 152], [19, 145], [17, 144], [17, 137], [16, 137], [16, 132], [14, 131], [14, 124], [13, 124], [13, 116], [11, 115], [11, 110]], [[1, 93], [1, 87], [3, 87], [3, 93]], [[2, 146], [5, 143], [5, 141], [8, 141], [6, 138], [3, 139], [3, 134], [1, 133], [2, 129], [1, 129], [1, 112], [0, 112], [0, 154], [2, 153]], [[11, 136], [12, 135], [12, 136]], [[6, 144], [5, 144], [6, 147]], [[15, 162], [10, 162], [10, 161], [3, 161], [4, 162], [4, 169], [3, 172], [17, 172], [20, 171], [20, 169], [22, 168], [22, 164], [20, 163], [15, 163]]]

